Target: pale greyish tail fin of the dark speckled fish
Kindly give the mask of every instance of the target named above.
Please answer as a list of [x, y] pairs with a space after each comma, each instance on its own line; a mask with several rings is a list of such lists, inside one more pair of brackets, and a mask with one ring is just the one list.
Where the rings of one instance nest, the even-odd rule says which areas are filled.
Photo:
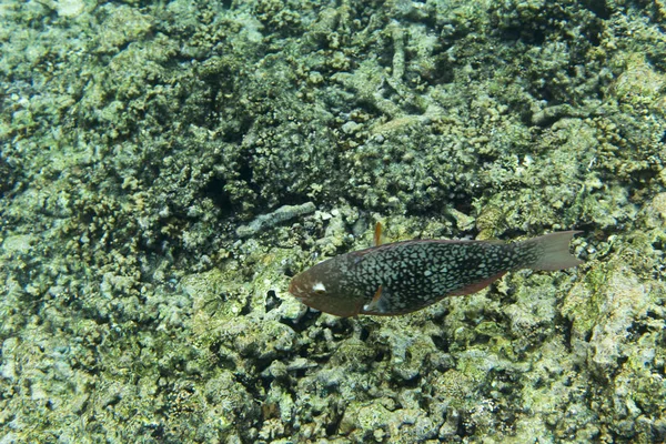
[[528, 249], [535, 248], [538, 252], [536, 260], [526, 266], [533, 270], [563, 270], [583, 263], [568, 252], [572, 238], [581, 231], [559, 231], [545, 234], [524, 242]]

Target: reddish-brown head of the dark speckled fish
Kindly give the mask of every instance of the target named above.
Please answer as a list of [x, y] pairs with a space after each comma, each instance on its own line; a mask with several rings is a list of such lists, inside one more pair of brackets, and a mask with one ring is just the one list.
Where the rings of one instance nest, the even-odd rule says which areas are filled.
[[363, 306], [364, 297], [344, 284], [345, 258], [321, 262], [296, 274], [289, 292], [305, 305], [337, 316], [354, 316]]

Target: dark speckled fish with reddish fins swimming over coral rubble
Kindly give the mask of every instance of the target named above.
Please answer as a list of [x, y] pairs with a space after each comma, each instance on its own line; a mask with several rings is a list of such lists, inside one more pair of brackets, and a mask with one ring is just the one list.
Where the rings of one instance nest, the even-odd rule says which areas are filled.
[[476, 293], [509, 271], [556, 271], [583, 263], [568, 251], [581, 231], [519, 242], [423, 240], [381, 243], [341, 254], [296, 274], [289, 292], [305, 305], [336, 316], [393, 316], [425, 309], [446, 296]]

